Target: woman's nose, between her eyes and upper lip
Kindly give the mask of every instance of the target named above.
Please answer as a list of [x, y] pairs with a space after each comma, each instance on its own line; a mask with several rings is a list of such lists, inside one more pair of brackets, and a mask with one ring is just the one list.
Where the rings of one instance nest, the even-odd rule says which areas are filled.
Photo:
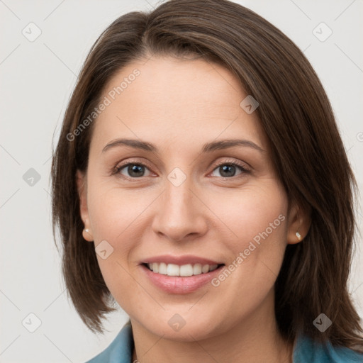
[[168, 179], [158, 198], [157, 211], [152, 221], [152, 230], [157, 235], [172, 241], [191, 240], [206, 233], [206, 212], [198, 192], [191, 189], [187, 177], [184, 183], [175, 186]]

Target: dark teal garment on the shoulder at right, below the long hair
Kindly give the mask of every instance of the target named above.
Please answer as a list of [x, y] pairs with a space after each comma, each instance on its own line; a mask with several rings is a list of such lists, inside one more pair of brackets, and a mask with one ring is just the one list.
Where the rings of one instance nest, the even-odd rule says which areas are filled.
[[294, 346], [294, 363], [363, 363], [363, 354], [330, 342], [320, 344], [305, 335], [298, 335]]

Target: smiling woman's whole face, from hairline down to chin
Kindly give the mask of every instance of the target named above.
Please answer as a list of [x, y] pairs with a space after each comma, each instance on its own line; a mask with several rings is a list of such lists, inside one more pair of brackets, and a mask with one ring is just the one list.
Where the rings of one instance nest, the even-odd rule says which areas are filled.
[[[246, 96], [219, 65], [152, 57], [123, 68], [101, 97], [78, 180], [84, 237], [113, 297], [156, 335], [203, 339], [273, 315], [298, 222], [257, 113], [240, 106]], [[218, 269], [206, 272], [207, 260]], [[195, 275], [165, 275], [180, 271]]]

